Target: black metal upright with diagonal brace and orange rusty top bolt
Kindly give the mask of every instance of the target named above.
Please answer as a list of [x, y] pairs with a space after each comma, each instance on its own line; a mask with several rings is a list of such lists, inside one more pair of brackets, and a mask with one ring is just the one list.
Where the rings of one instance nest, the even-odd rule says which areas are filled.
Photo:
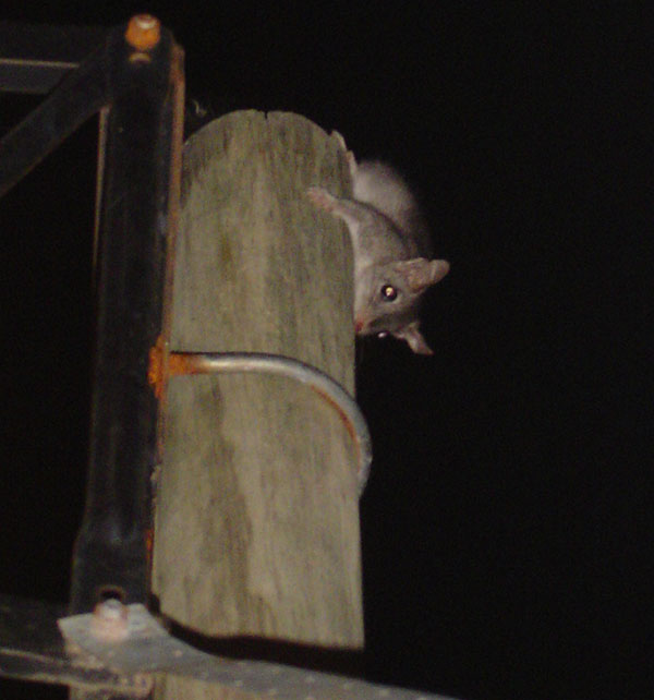
[[[46, 74], [32, 70], [33, 79]], [[155, 17], [137, 15], [107, 31], [0, 141], [2, 195], [86, 119], [101, 114], [90, 456], [73, 555], [75, 613], [92, 611], [102, 595], [124, 603], [148, 596], [148, 483], [159, 460], [160, 417], [148, 363], [170, 325], [165, 302], [179, 208], [183, 92], [181, 48]]]

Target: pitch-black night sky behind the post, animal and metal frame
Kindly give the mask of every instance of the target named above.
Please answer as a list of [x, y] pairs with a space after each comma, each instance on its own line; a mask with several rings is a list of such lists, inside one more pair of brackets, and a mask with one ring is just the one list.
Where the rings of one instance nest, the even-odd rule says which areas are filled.
[[[26, 2], [0, 19], [111, 26], [148, 10], [185, 49], [190, 96], [300, 112], [422, 196], [451, 263], [424, 311], [435, 354], [359, 352], [367, 677], [461, 700], [647, 697], [643, 13], [319, 7]], [[37, 101], [0, 100], [1, 133]], [[95, 134], [0, 202], [0, 590], [50, 601], [68, 598], [83, 505]], [[2, 698], [64, 696], [0, 681]]]

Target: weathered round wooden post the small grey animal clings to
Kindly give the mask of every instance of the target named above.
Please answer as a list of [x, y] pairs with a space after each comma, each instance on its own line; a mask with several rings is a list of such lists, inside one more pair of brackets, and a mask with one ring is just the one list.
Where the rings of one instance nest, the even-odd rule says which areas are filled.
[[[170, 349], [282, 354], [353, 393], [350, 243], [305, 196], [318, 183], [344, 194], [348, 179], [339, 140], [296, 114], [234, 112], [197, 132]], [[338, 412], [261, 374], [172, 377], [167, 405], [161, 612], [206, 636], [361, 648], [358, 458]], [[199, 685], [169, 678], [157, 697], [209, 697]]]

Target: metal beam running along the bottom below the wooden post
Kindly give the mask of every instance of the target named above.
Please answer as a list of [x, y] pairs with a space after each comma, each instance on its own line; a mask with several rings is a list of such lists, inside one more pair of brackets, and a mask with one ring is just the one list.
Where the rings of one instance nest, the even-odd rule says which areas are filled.
[[58, 620], [62, 611], [0, 596], [0, 675], [120, 696], [147, 695], [152, 674], [170, 673], [262, 698], [447, 700], [295, 666], [216, 656], [172, 637], [141, 604], [109, 600], [93, 614]]

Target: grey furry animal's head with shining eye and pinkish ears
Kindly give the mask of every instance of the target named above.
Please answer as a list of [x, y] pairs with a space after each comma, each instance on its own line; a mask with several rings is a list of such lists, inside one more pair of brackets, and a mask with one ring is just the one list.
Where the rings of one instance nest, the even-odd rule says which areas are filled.
[[405, 340], [413, 352], [432, 354], [420, 333], [420, 298], [449, 271], [447, 261], [415, 257], [371, 265], [361, 270], [354, 299], [354, 328], [359, 335], [387, 334]]

